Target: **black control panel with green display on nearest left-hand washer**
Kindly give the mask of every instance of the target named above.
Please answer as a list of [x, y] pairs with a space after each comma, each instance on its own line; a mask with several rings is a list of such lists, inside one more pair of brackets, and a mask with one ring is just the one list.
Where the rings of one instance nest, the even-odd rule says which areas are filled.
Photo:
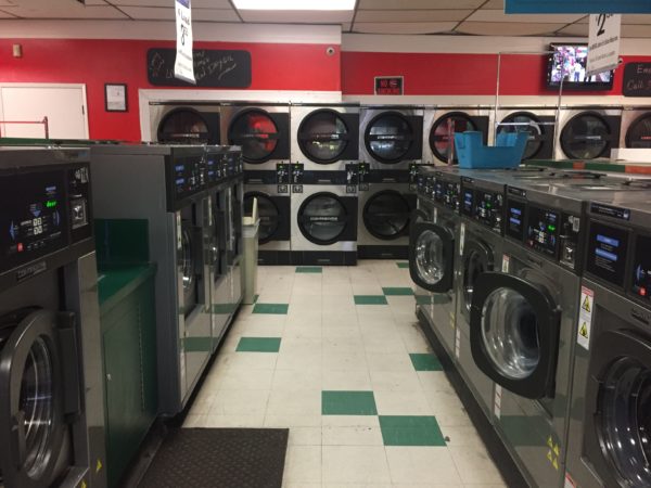
[[90, 237], [89, 188], [87, 164], [0, 175], [0, 273]]

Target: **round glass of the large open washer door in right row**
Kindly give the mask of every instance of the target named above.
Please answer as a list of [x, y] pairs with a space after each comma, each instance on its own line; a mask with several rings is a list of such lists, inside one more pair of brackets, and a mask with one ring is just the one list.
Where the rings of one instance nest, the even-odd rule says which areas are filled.
[[482, 341], [493, 367], [509, 380], [529, 376], [540, 362], [536, 312], [511, 288], [497, 288], [484, 301]]

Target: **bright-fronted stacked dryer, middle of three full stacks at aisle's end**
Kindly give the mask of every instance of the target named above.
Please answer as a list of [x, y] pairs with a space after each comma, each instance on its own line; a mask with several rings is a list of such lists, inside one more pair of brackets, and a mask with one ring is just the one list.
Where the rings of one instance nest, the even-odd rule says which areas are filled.
[[292, 262], [357, 262], [359, 105], [292, 105]]

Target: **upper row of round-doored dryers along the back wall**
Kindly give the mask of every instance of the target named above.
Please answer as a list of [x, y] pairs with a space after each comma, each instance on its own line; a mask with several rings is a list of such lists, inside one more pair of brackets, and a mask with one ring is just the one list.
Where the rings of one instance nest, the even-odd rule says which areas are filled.
[[452, 134], [465, 130], [483, 132], [485, 142], [497, 132], [525, 130], [526, 159], [592, 159], [610, 157], [617, 147], [651, 147], [649, 106], [496, 111], [480, 105], [151, 102], [150, 114], [157, 141], [241, 145], [247, 169], [294, 162], [333, 170], [353, 153], [373, 169], [397, 169], [408, 160], [448, 163], [455, 159]]

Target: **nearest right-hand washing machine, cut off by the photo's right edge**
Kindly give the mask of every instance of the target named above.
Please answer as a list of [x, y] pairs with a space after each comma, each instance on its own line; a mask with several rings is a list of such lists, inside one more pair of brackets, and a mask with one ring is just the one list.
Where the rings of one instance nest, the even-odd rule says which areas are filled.
[[572, 337], [571, 486], [651, 486], [651, 194], [635, 201], [587, 207], [586, 272]]

